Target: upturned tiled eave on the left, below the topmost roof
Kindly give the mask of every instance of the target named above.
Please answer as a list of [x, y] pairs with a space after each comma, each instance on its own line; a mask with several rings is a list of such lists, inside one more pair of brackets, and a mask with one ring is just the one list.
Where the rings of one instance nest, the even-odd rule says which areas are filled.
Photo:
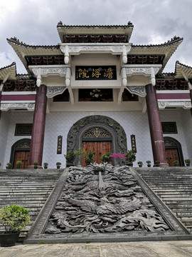
[[26, 70], [30, 73], [25, 56], [60, 55], [59, 46], [30, 46], [7, 39]]

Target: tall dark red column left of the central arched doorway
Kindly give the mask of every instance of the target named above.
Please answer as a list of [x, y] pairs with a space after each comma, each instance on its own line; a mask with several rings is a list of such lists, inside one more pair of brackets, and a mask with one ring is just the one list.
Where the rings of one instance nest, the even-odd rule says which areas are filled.
[[34, 161], [38, 161], [38, 168], [42, 168], [43, 141], [46, 125], [46, 92], [46, 85], [41, 85], [36, 91], [36, 106], [33, 115], [33, 130], [31, 136], [31, 151], [28, 168], [33, 168]]

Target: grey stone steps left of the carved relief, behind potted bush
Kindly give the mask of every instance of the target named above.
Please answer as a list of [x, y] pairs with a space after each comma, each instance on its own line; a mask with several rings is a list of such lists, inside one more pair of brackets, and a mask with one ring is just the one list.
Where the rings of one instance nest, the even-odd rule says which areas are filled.
[[62, 173], [63, 169], [0, 170], [0, 208], [17, 204], [30, 210], [31, 223], [23, 229], [21, 241]]

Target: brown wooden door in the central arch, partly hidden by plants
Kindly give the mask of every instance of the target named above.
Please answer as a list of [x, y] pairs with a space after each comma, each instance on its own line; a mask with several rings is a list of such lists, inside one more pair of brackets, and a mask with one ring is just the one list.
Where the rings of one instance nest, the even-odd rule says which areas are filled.
[[[90, 150], [95, 152], [95, 161], [102, 163], [101, 156], [108, 151], [112, 152], [112, 141], [84, 141], [82, 142], [82, 148], [85, 149], [86, 153]], [[82, 166], [86, 166], [85, 158], [82, 158]]]

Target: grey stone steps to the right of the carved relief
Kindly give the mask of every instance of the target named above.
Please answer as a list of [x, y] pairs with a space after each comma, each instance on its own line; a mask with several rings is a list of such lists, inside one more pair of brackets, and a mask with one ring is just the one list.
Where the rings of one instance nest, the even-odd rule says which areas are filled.
[[135, 170], [188, 231], [192, 232], [192, 167]]

